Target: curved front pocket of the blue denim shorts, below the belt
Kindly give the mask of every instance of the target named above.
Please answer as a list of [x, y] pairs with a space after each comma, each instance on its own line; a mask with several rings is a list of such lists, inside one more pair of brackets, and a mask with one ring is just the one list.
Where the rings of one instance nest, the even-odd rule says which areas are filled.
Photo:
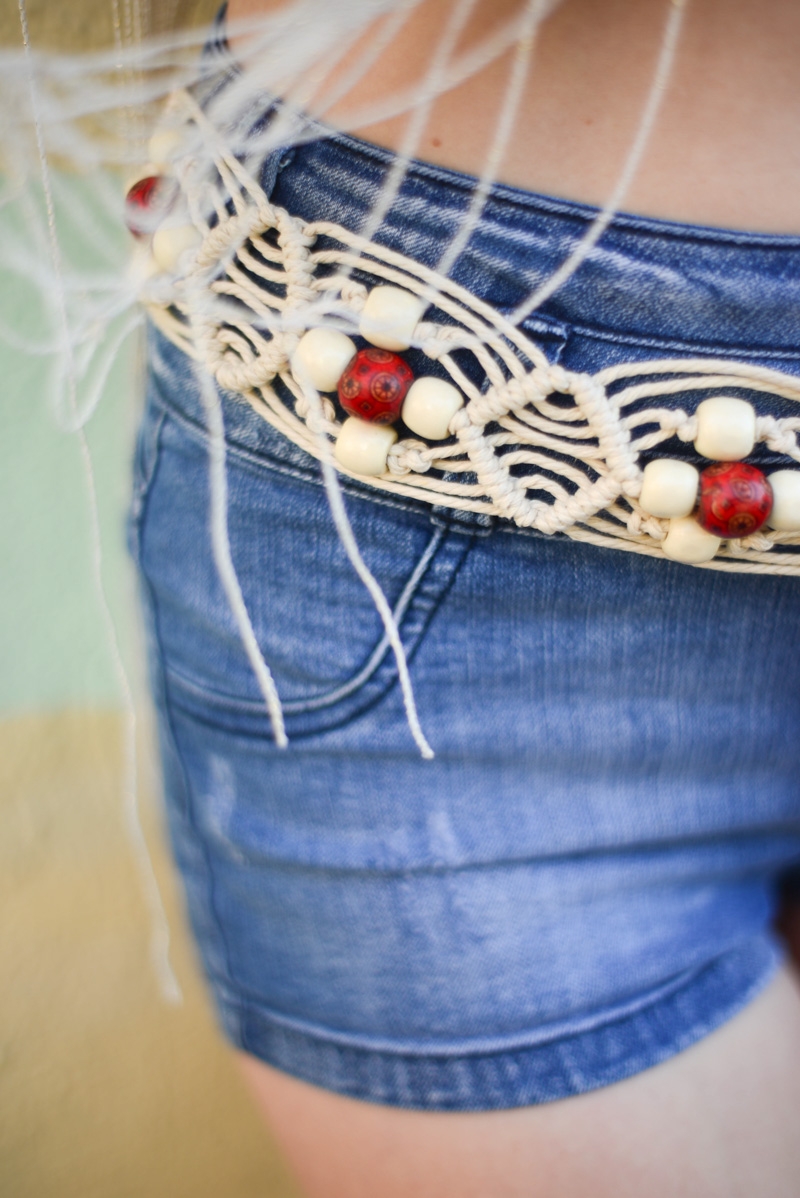
[[[268, 732], [263, 700], [213, 561], [207, 479], [205, 438], [166, 416], [141, 522], [158, 653], [172, 704], [261, 736]], [[228, 492], [234, 564], [290, 737], [345, 722], [386, 694], [396, 666], [325, 491], [234, 448]], [[347, 507], [412, 657], [472, 538], [369, 498], [349, 497]]]

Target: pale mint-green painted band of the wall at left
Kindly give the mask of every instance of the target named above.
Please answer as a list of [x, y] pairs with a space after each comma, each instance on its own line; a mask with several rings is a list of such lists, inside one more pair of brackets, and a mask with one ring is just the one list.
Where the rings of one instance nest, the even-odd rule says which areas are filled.
[[[80, 272], [122, 278], [127, 232], [109, 210], [115, 183], [55, 177], [60, 196], [61, 253], [69, 278]], [[98, 200], [98, 195], [105, 195]], [[38, 202], [37, 202], [38, 200]], [[66, 219], [67, 210], [72, 219]], [[69, 232], [84, 220], [81, 235]], [[17, 249], [22, 261], [4, 270], [0, 291], [0, 712], [115, 703], [120, 688], [98, 599], [91, 537], [90, 488], [79, 436], [60, 428], [53, 355], [30, 352], [28, 341], [57, 335], [55, 289], [25, 273], [25, 253], [43, 236], [41, 196], [26, 190], [0, 210], [0, 259]], [[48, 262], [49, 259], [44, 258]], [[42, 260], [40, 259], [40, 268]], [[31, 266], [31, 274], [34, 266]], [[89, 296], [87, 302], [92, 297]], [[81, 296], [75, 298], [75, 310]], [[133, 309], [132, 309], [133, 310]], [[114, 329], [111, 329], [114, 331]], [[17, 343], [10, 343], [10, 338]], [[103, 579], [126, 655], [135, 628], [133, 571], [125, 549], [132, 446], [141, 401], [140, 333], [116, 355], [102, 398], [86, 425], [103, 547]], [[78, 404], [87, 385], [77, 387]], [[135, 654], [133, 654], [135, 660]]]

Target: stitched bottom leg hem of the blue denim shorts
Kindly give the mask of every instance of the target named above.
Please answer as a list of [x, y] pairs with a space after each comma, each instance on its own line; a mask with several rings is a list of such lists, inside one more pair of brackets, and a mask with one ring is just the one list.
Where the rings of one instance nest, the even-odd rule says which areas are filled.
[[[657, 1065], [737, 1015], [783, 960], [769, 936], [705, 966], [680, 990], [619, 1019], [533, 1048], [460, 1055], [407, 1054], [334, 1043], [274, 1018], [247, 999], [217, 1003], [237, 1048], [351, 1099], [419, 1111], [498, 1111], [586, 1094]], [[213, 985], [213, 982], [212, 982]]]

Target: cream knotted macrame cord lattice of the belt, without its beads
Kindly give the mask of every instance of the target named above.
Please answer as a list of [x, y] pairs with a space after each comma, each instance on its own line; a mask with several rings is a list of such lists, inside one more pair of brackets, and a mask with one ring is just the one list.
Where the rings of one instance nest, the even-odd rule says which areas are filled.
[[[437, 272], [339, 225], [303, 223], [269, 204], [225, 153], [193, 98], [178, 96], [172, 115], [175, 108], [206, 146], [213, 139], [214, 171], [198, 171], [190, 157], [178, 163], [202, 244], [186, 276], [168, 285], [156, 280], [144, 298], [158, 327], [220, 387], [243, 395], [309, 454], [332, 459], [337, 409], [327, 397], [310, 397], [291, 371], [301, 335], [322, 323], [357, 332], [368, 288], [353, 271], [428, 303], [414, 347], [461, 389], [466, 404], [448, 441], [398, 441], [386, 473], [364, 479], [371, 485], [659, 557], [668, 521], [637, 503], [642, 454], [673, 437], [693, 441], [699, 398], [733, 391], [800, 405], [800, 379], [731, 361], [654, 359], [594, 375], [552, 364], [499, 313]], [[679, 406], [663, 406], [667, 397], [679, 397]], [[798, 429], [800, 406], [796, 417], [762, 415], [757, 443], [800, 462]], [[703, 564], [800, 574], [800, 533], [764, 530], [729, 540]]]

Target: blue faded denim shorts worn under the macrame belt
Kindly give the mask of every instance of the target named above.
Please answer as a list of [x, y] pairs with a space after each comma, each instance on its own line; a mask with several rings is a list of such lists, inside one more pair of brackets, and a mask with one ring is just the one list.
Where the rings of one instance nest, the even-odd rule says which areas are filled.
[[[262, 182], [357, 230], [390, 161], [320, 138]], [[377, 240], [435, 266], [473, 186], [412, 164]], [[453, 274], [510, 311], [593, 214], [497, 186]], [[709, 355], [800, 374], [799, 267], [799, 238], [622, 216], [525, 329], [574, 370]], [[222, 401], [232, 558], [287, 750], [212, 558], [198, 381], [152, 334], [132, 541], [172, 843], [230, 1040], [352, 1097], [475, 1111], [607, 1085], [735, 1015], [781, 961], [776, 894], [800, 864], [800, 583], [344, 479], [423, 761], [319, 464]]]

